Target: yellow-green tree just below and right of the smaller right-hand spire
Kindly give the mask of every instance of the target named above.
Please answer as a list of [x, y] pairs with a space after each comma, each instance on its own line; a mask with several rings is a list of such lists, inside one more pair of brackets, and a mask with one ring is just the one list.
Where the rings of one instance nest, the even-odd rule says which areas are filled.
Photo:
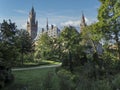
[[99, 24], [93, 23], [89, 26], [84, 27], [84, 32], [82, 32], [81, 35], [82, 44], [86, 47], [85, 50], [90, 53], [98, 53], [97, 47], [102, 40], [102, 32]]

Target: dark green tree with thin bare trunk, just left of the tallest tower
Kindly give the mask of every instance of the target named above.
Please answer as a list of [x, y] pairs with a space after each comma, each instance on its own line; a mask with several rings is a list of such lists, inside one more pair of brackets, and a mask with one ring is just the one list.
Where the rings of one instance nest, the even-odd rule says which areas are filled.
[[24, 54], [29, 54], [34, 51], [34, 43], [26, 30], [19, 30], [18, 37], [16, 41], [16, 47], [21, 54], [21, 64], [24, 64]]

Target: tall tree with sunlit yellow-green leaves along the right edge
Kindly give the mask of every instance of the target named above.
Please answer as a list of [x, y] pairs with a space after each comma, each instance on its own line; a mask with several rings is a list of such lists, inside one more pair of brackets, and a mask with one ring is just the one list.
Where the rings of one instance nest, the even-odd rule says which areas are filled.
[[[99, 25], [103, 34], [104, 42], [116, 46], [116, 57], [120, 59], [120, 2], [119, 0], [100, 0], [101, 6], [98, 11]], [[113, 48], [113, 47], [112, 47]]]

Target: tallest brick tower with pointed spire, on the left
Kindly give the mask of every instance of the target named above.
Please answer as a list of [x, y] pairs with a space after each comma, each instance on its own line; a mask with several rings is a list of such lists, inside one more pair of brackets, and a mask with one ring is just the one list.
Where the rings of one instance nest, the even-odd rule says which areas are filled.
[[31, 36], [32, 41], [37, 36], [37, 29], [38, 29], [38, 21], [36, 21], [36, 12], [34, 11], [34, 7], [32, 7], [27, 21], [27, 31]]

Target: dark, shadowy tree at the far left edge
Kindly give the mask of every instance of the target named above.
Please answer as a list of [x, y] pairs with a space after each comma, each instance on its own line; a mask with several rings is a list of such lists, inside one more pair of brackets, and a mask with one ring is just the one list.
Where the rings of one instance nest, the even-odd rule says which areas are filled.
[[0, 30], [0, 52], [2, 54], [2, 62], [4, 62], [6, 66], [12, 66], [18, 54], [15, 46], [16, 32], [15, 23], [12, 23], [11, 20], [9, 20], [9, 22], [3, 21]]

